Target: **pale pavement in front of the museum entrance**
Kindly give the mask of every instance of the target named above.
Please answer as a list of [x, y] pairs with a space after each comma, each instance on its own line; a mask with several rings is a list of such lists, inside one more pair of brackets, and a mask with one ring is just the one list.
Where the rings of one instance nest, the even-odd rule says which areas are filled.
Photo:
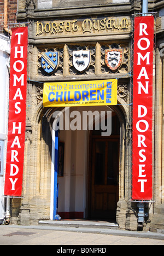
[[98, 246], [102, 252], [109, 245], [164, 245], [164, 234], [81, 226], [0, 225], [0, 245], [56, 245], [57, 253], [78, 254], [84, 246], [86, 250]]

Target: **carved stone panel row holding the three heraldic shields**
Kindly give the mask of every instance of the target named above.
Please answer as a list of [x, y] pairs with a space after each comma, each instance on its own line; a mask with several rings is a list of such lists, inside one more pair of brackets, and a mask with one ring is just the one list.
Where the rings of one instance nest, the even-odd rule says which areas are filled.
[[[99, 45], [99, 47], [97, 45]], [[130, 69], [129, 49], [127, 47], [123, 47], [120, 44], [100, 45], [97, 43], [95, 45], [65, 45], [62, 48], [39, 48], [37, 49], [37, 52], [37, 73], [39, 76], [44, 77], [67, 77], [69, 75], [81, 76], [110, 73], [127, 74]], [[58, 54], [58, 65], [55, 72], [53, 73], [45, 72], [42, 65], [42, 53], [49, 52], [57, 52]], [[90, 53], [90, 56], [87, 58], [89, 63], [87, 63], [85, 68], [77, 68], [75, 65], [75, 62], [77, 62], [79, 65], [84, 66], [84, 64], [86, 64], [85, 62], [87, 62], [85, 56], [83, 58], [80, 57], [80, 59], [78, 59], [78, 57], [75, 59], [74, 54], [78, 56], [77, 53], [79, 53], [79, 55], [80, 53], [84, 53], [84, 55], [85, 53]], [[108, 61], [109, 57], [110, 60]]]

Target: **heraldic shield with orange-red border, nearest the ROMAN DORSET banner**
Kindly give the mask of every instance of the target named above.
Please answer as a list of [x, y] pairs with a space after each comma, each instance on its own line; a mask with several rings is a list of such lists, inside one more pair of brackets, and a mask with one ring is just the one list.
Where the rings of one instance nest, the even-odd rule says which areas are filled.
[[122, 65], [122, 49], [106, 50], [105, 61], [111, 71], [116, 71]]

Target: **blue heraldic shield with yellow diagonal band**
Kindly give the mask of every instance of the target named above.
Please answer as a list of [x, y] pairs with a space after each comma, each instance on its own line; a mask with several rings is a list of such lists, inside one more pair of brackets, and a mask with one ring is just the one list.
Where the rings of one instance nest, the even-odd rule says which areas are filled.
[[55, 71], [58, 65], [58, 53], [49, 51], [48, 53], [42, 53], [42, 68], [46, 73], [52, 73]]

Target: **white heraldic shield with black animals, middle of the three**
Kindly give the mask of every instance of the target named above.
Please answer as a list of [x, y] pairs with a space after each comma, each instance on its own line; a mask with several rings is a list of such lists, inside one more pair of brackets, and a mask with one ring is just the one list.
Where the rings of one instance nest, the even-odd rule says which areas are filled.
[[89, 51], [73, 51], [73, 66], [79, 72], [83, 72], [90, 65]]

